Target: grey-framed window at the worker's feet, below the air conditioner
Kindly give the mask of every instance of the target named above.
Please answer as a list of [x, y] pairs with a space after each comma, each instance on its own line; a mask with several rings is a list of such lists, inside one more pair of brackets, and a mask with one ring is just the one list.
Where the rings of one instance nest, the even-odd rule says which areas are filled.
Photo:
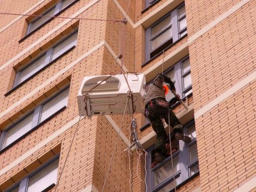
[[[179, 141], [178, 144], [177, 141], [171, 139], [173, 164], [171, 155], [164, 157], [161, 153], [155, 152], [154, 146], [149, 148], [149, 155], [146, 159], [146, 169], [149, 173], [146, 182], [149, 191], [170, 191], [175, 185], [185, 182], [199, 172], [195, 123], [192, 121], [185, 125], [184, 132], [192, 140], [188, 144], [183, 141]], [[174, 149], [173, 146], [176, 145], [178, 147]]]

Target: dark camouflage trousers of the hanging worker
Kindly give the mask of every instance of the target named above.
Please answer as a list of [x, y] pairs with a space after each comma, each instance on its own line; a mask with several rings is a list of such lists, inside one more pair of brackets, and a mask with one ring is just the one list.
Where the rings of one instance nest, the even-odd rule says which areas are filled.
[[[155, 99], [151, 100], [151, 102], [155, 102]], [[180, 124], [180, 121], [176, 117], [174, 112], [171, 110], [170, 106], [168, 110], [169, 112], [167, 112], [166, 114], [160, 114], [159, 112], [157, 112], [152, 108], [152, 105], [150, 105], [150, 102], [145, 106], [144, 115], [149, 119], [153, 130], [157, 134], [157, 143], [155, 143], [155, 147], [157, 148], [163, 148], [166, 142], [167, 134], [166, 134], [166, 131], [164, 130], [164, 124], [162, 122], [162, 119], [164, 118], [164, 121], [166, 121], [166, 123], [168, 124], [169, 114], [170, 114], [171, 131], [173, 131], [174, 134], [183, 132], [182, 130], [178, 130], [176, 128], [172, 130], [172, 128], [175, 127], [175, 125]]]

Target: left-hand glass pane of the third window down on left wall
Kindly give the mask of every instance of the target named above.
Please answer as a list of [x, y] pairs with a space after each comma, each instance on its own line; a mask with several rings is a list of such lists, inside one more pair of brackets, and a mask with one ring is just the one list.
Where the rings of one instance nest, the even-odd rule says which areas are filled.
[[25, 133], [27, 133], [32, 128], [33, 114], [30, 114], [28, 117], [24, 118], [10, 130], [6, 131], [3, 148], [13, 143]]

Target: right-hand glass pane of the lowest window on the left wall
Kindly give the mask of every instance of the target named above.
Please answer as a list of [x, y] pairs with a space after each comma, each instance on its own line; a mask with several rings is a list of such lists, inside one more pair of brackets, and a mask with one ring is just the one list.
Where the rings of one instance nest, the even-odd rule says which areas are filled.
[[59, 159], [55, 160], [37, 174], [29, 178], [28, 192], [39, 192], [45, 190], [51, 184], [57, 182], [57, 171], [58, 171]]

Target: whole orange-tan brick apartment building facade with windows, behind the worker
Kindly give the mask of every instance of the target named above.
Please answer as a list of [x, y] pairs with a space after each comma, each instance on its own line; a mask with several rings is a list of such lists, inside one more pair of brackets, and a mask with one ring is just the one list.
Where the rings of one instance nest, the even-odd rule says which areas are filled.
[[[23, 14], [0, 16], [1, 191], [256, 190], [255, 1], [0, 4]], [[79, 118], [83, 77], [122, 64], [146, 83], [163, 70], [188, 104], [173, 106], [192, 137], [174, 166], [170, 156], [153, 166], [156, 136], [143, 114], [134, 118], [146, 157], [124, 151], [132, 115]]]

